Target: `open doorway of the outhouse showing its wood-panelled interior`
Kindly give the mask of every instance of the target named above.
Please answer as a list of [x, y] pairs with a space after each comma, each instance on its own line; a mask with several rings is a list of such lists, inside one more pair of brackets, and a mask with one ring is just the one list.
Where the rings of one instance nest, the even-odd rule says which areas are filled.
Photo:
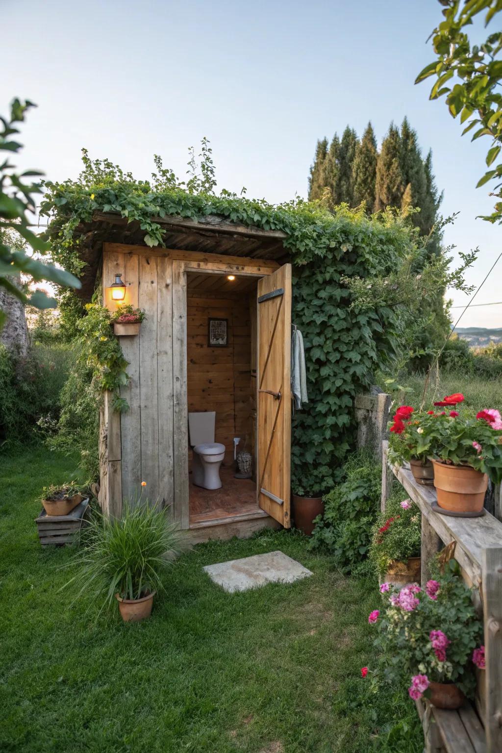
[[[194, 458], [189, 431], [190, 528], [266, 516], [256, 492], [257, 280], [187, 273], [188, 414], [214, 412], [212, 441], [223, 446], [221, 487], [207, 489], [195, 483], [207, 468], [205, 456]], [[251, 453], [251, 477], [236, 477], [234, 453], [241, 452]]]

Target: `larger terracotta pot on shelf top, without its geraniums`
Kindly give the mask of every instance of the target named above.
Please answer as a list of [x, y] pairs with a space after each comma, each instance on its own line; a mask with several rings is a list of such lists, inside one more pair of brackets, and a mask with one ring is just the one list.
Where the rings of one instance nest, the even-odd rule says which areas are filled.
[[485, 504], [488, 476], [470, 465], [448, 465], [433, 460], [437, 504], [455, 513], [479, 513]]

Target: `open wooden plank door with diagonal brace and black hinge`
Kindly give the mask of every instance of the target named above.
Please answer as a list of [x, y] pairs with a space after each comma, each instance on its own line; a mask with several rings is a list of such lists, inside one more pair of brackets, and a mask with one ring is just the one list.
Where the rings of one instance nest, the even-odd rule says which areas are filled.
[[291, 264], [258, 281], [257, 500], [291, 528]]

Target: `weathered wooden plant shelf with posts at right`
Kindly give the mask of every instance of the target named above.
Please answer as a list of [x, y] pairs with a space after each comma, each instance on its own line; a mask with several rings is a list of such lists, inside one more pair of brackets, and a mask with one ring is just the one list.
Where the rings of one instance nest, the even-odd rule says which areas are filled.
[[[477, 518], [447, 517], [432, 508], [434, 486], [416, 483], [409, 469], [388, 462], [382, 443], [382, 511], [397, 478], [421, 511], [421, 585], [430, 577], [429, 563], [444, 544], [455, 541], [455, 559], [482, 614], [486, 669], [477, 672], [476, 708], [443, 712], [417, 702], [424, 727], [425, 750], [458, 753], [502, 751], [502, 523], [490, 513]], [[484, 731], [482, 730], [484, 727]]]

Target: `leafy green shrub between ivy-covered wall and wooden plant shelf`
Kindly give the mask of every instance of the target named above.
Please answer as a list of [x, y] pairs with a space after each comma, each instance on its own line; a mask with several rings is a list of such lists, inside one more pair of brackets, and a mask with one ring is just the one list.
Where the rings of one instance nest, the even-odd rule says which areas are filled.
[[344, 572], [361, 569], [367, 559], [371, 530], [379, 512], [382, 468], [366, 453], [354, 453], [343, 468], [343, 480], [324, 497], [324, 518], [309, 542], [335, 556]]

